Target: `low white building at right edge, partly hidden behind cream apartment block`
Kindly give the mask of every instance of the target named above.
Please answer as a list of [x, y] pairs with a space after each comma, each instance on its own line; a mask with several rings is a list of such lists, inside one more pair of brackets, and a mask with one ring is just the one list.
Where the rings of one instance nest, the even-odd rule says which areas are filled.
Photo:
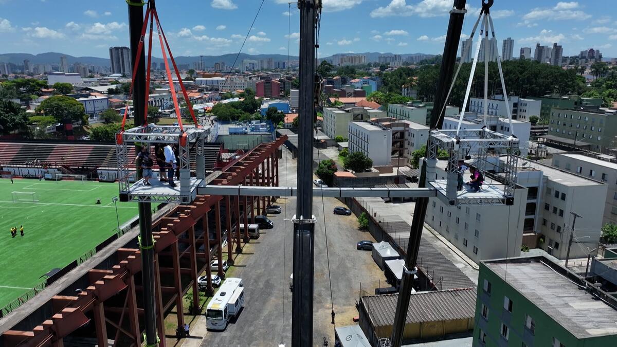
[[[553, 166], [568, 172], [589, 178], [607, 185], [607, 197], [604, 203], [602, 224], [617, 224], [617, 164], [602, 160], [602, 157], [586, 156], [584, 153], [553, 154]], [[577, 222], [578, 223], [578, 222]]]

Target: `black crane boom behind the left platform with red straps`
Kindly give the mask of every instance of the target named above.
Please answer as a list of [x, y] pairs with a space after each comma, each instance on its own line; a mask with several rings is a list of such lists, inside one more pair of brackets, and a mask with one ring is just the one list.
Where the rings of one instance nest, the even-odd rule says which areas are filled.
[[[129, 0], [128, 4], [128, 24], [131, 41], [131, 65], [134, 67], [137, 61], [137, 51], [139, 42], [143, 41], [141, 28], [144, 25], [144, 4], [139, 0]], [[149, 6], [154, 7], [154, 0], [150, 0]], [[144, 49], [139, 57], [139, 65], [135, 76], [131, 76], [135, 83], [133, 85], [133, 114], [135, 115], [135, 126], [143, 125], [146, 119], [146, 54]], [[136, 153], [139, 153], [136, 148]], [[138, 166], [139, 167], [139, 166]], [[137, 171], [138, 178], [141, 178], [141, 169]], [[156, 311], [154, 304], [154, 248], [152, 236], [152, 207], [151, 203], [138, 203], [139, 212], [139, 239], [141, 248], [141, 278], [144, 297], [144, 320], [146, 322], [146, 346], [157, 346], [158, 337], [156, 332]], [[163, 314], [163, 312], [159, 312]]]

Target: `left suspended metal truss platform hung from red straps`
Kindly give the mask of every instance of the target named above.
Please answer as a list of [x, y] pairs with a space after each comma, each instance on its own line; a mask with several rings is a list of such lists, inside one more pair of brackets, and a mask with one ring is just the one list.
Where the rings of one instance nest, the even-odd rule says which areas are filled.
[[[118, 156], [118, 185], [120, 186], [120, 201], [139, 203], [181, 203], [189, 204], [197, 196], [197, 187], [205, 185], [205, 141], [210, 134], [210, 127], [184, 127], [146, 125], [119, 133], [116, 143]], [[131, 185], [133, 174], [129, 167], [129, 146], [143, 144], [175, 144], [178, 148], [177, 165], [180, 169], [180, 181], [176, 186], [170, 186], [159, 180], [150, 180], [151, 186], [144, 185], [143, 178]], [[191, 176], [189, 154], [196, 153], [196, 170]], [[152, 155], [152, 154], [151, 154]]]

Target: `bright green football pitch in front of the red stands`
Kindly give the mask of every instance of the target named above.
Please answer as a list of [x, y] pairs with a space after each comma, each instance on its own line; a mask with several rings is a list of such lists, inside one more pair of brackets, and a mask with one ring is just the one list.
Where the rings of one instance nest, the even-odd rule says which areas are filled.
[[[13, 192], [35, 196], [19, 194], [14, 202]], [[118, 223], [112, 197], [117, 195], [117, 183], [0, 179], [0, 308], [41, 283], [41, 275], [113, 235]], [[120, 225], [138, 214], [136, 203], [117, 206]], [[14, 238], [12, 227], [18, 229]]]

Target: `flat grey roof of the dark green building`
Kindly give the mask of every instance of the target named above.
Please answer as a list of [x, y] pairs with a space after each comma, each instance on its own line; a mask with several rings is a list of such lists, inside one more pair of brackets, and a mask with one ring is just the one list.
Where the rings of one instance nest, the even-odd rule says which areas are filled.
[[577, 338], [617, 334], [617, 310], [581, 290], [565, 269], [545, 257], [516, 260], [484, 265]]

